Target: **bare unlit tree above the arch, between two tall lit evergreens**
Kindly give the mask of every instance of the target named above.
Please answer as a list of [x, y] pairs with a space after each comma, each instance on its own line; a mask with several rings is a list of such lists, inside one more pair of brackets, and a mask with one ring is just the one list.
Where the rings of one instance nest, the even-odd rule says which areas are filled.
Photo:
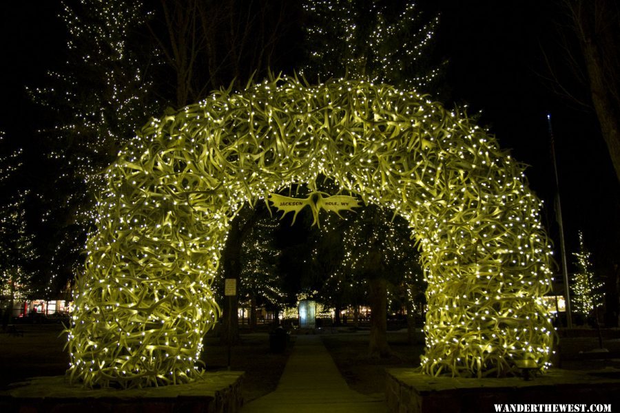
[[287, 1], [160, 0], [158, 7], [149, 31], [166, 63], [164, 76], [176, 79], [178, 107], [230, 83], [240, 89], [286, 57], [280, 49], [295, 14]]

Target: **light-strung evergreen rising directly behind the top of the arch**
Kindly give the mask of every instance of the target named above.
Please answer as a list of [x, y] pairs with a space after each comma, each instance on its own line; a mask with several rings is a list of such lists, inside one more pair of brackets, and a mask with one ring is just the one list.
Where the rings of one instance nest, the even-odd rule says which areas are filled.
[[364, 78], [428, 90], [440, 76], [431, 59], [439, 17], [413, 1], [305, 0], [306, 78]]

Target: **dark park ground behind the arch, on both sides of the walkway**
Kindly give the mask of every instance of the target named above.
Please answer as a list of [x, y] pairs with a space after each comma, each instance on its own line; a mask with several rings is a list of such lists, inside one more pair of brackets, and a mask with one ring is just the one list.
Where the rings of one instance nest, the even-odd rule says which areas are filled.
[[[63, 375], [68, 366], [68, 354], [63, 351], [65, 337], [60, 324], [25, 324], [17, 326], [23, 337], [0, 332], [0, 390], [10, 383], [24, 381], [28, 377]], [[620, 368], [620, 330], [607, 330], [603, 347], [610, 350], [612, 358], [586, 359], [579, 352], [599, 347], [597, 335], [584, 330], [590, 337], [564, 337], [561, 339], [563, 360], [561, 368], [590, 370], [607, 367]], [[388, 332], [388, 340], [395, 356], [389, 359], [373, 359], [368, 354], [368, 332], [351, 332], [346, 329], [331, 330], [322, 334], [338, 369], [353, 390], [364, 394], [384, 392], [384, 369], [415, 367], [423, 346], [421, 341], [409, 345], [406, 330]], [[269, 351], [267, 332], [242, 334], [242, 343], [233, 346], [231, 370], [244, 370], [244, 399], [251, 401], [275, 390], [282, 370], [291, 352], [283, 354]], [[220, 345], [216, 337], [205, 338], [207, 370], [227, 368], [227, 347]]]

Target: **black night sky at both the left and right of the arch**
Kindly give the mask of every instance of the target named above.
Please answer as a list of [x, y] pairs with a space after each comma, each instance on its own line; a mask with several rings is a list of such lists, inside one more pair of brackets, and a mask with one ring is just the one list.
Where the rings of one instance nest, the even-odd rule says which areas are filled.
[[[562, 100], [544, 84], [541, 50], [559, 53], [553, 40], [557, 16], [550, 5], [535, 0], [422, 2], [442, 13], [437, 53], [449, 61], [446, 105], [466, 104], [469, 114], [482, 111], [479, 124], [529, 165], [526, 176], [546, 202], [543, 222], [559, 254], [546, 119], [551, 114], [569, 251], [577, 251], [577, 231], [583, 230], [590, 249], [609, 258], [617, 255], [619, 187], [594, 114]], [[31, 160], [41, 156], [35, 130], [47, 120], [29, 102], [25, 85], [43, 85], [45, 72], [63, 61], [59, 8], [46, 0], [3, 5], [0, 129], [10, 141], [5, 145], [24, 147]], [[36, 180], [45, 173], [32, 171], [36, 173], [24, 178]]]

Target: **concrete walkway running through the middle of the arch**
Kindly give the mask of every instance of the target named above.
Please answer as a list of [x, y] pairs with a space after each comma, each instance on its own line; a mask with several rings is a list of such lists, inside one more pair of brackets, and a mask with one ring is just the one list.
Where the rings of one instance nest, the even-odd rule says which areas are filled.
[[319, 336], [297, 336], [276, 391], [241, 408], [241, 413], [383, 413], [383, 397], [349, 389]]

